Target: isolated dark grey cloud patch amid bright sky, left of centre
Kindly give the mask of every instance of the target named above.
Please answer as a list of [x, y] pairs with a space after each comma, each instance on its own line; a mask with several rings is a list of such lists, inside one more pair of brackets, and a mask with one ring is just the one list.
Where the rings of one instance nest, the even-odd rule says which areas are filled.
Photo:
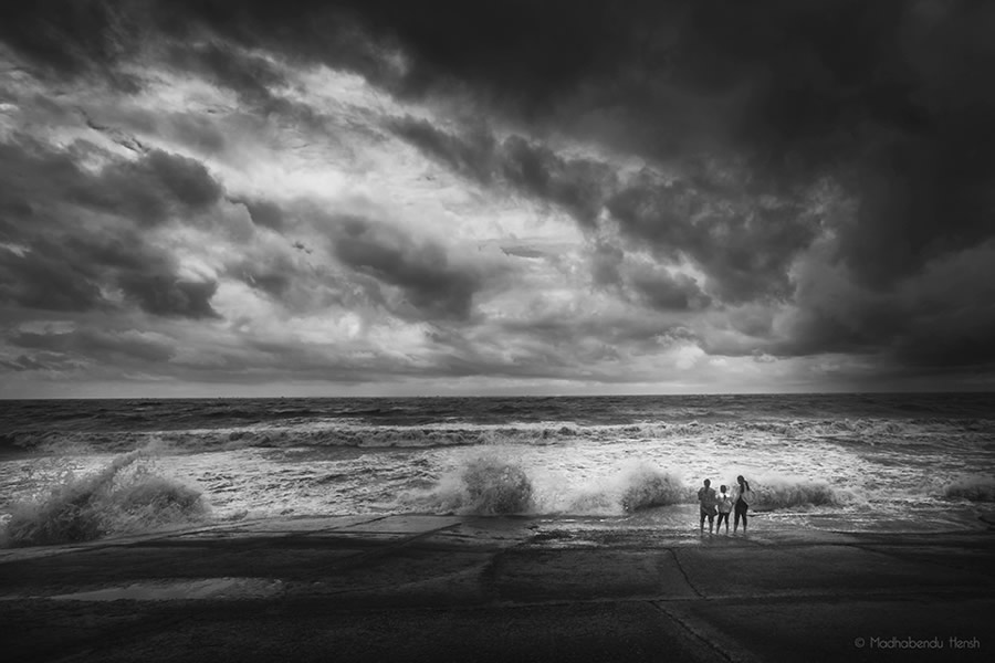
[[423, 316], [467, 319], [482, 287], [475, 270], [453, 263], [446, 250], [360, 217], [335, 220], [332, 251], [358, 274], [400, 288]]

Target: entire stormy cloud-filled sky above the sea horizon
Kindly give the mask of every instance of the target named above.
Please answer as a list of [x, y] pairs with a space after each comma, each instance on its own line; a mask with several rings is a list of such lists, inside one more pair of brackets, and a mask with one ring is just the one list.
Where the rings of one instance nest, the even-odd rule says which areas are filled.
[[995, 3], [0, 9], [0, 397], [995, 388]]

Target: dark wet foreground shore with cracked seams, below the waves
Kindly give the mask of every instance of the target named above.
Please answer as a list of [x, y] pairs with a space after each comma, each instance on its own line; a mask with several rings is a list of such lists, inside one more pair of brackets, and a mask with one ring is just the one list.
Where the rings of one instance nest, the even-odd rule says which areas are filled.
[[701, 538], [370, 516], [0, 550], [0, 652], [18, 662], [982, 661], [995, 651], [993, 535]]

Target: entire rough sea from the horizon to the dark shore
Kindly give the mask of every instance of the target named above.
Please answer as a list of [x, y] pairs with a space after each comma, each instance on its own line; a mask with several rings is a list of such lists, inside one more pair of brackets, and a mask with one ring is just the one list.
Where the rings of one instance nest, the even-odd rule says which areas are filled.
[[0, 545], [453, 514], [698, 533], [987, 528], [995, 393], [0, 401]]

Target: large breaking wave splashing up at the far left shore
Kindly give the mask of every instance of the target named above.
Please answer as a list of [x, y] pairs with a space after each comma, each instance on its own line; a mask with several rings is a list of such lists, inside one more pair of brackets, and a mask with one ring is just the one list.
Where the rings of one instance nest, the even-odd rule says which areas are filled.
[[200, 519], [200, 492], [154, 473], [147, 460], [147, 450], [136, 450], [92, 474], [64, 473], [48, 493], [11, 505], [0, 545], [88, 541]]

